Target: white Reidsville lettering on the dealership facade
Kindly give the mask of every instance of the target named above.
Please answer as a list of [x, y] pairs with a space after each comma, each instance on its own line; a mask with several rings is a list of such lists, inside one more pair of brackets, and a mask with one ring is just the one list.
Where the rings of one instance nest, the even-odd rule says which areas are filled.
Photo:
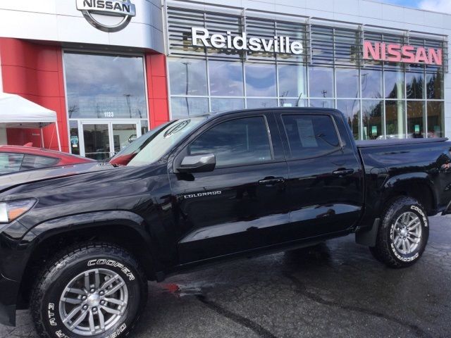
[[290, 37], [273, 37], [264, 39], [260, 37], [247, 37], [246, 33], [233, 36], [231, 32], [226, 35], [210, 35], [209, 30], [202, 27], [192, 27], [192, 45], [214, 47], [218, 49], [235, 49], [237, 51], [266, 51], [271, 53], [302, 54], [304, 48], [299, 41], [291, 41]]

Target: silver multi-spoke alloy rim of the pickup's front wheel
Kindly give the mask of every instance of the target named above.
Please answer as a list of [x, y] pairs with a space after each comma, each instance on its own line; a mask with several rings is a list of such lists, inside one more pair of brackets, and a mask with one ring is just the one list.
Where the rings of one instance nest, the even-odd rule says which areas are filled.
[[116, 325], [127, 303], [128, 289], [120, 275], [108, 269], [92, 269], [66, 285], [59, 313], [70, 332], [92, 336]]

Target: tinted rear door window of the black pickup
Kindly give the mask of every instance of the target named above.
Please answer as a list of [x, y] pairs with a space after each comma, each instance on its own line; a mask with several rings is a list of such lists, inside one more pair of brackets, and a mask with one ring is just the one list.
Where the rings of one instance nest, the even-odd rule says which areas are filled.
[[291, 158], [312, 158], [340, 149], [337, 130], [328, 115], [283, 115]]

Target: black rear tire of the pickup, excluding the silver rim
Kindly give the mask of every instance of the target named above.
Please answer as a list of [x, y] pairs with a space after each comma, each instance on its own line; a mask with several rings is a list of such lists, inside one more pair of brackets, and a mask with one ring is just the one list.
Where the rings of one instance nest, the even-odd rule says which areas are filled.
[[[421, 227], [421, 238], [416, 249], [411, 253], [404, 254], [396, 249], [394, 241], [397, 236], [395, 223], [400, 216], [406, 213], [413, 213], [418, 217], [419, 227]], [[429, 237], [428, 216], [424, 207], [419, 204], [419, 201], [405, 196], [392, 199], [385, 207], [381, 220], [376, 237], [376, 246], [369, 248], [374, 258], [385, 263], [390, 268], [405, 268], [419, 261]]]

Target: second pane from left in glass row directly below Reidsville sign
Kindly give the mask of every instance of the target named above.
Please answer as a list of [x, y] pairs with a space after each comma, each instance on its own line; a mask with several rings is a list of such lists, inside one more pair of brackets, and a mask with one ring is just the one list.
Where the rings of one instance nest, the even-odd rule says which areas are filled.
[[209, 61], [210, 94], [212, 96], [243, 96], [242, 63]]

